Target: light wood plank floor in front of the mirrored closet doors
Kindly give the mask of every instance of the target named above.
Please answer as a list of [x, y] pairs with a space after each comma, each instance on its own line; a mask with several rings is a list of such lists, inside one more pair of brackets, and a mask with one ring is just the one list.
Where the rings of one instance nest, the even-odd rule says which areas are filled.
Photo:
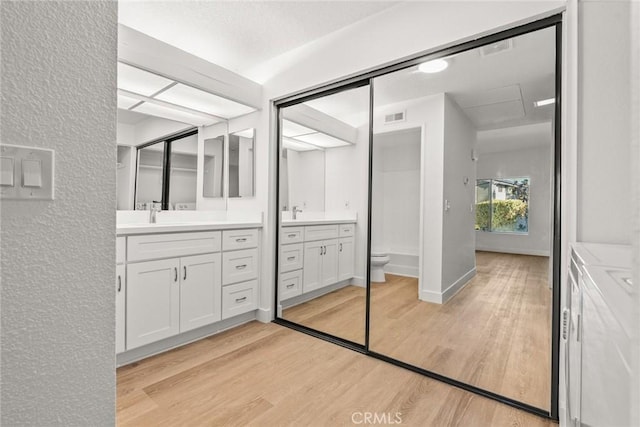
[[360, 412], [399, 413], [405, 426], [554, 425], [257, 322], [120, 368], [117, 380], [120, 426], [339, 426]]

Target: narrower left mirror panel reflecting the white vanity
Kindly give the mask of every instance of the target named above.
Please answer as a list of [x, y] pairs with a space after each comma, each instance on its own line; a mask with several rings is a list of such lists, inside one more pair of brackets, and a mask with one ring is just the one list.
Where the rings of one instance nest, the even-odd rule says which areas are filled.
[[369, 86], [280, 110], [283, 319], [365, 340]]

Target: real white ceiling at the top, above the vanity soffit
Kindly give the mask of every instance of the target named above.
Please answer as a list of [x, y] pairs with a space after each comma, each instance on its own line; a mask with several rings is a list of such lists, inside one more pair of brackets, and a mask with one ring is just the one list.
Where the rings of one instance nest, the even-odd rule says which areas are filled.
[[118, 21], [246, 75], [284, 52], [383, 11], [388, 1], [118, 2]]

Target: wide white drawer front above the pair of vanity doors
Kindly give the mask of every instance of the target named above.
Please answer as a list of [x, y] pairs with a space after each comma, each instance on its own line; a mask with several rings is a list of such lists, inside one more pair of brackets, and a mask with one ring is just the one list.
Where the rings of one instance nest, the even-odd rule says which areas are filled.
[[130, 236], [127, 238], [127, 259], [142, 261], [219, 252], [220, 240], [219, 231]]

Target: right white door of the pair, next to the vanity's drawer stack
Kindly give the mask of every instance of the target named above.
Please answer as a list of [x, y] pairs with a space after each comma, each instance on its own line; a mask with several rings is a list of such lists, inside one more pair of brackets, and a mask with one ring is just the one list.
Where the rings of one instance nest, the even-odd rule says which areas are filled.
[[221, 263], [219, 253], [180, 258], [180, 332], [221, 319]]

